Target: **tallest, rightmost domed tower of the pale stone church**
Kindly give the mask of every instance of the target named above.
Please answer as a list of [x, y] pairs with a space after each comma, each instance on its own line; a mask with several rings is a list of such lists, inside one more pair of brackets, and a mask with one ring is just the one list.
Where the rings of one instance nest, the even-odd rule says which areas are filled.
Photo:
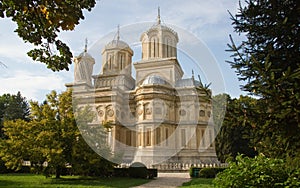
[[142, 60], [135, 63], [136, 85], [151, 75], [157, 75], [174, 85], [183, 76], [177, 60], [177, 33], [163, 25], [158, 9], [156, 23], [141, 35]]

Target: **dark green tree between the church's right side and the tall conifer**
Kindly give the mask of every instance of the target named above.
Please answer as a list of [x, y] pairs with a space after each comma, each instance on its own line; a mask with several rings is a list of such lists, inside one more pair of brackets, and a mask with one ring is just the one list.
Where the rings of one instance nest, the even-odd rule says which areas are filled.
[[[215, 96], [218, 98], [220, 96]], [[227, 109], [222, 127], [216, 137], [216, 153], [221, 162], [234, 159], [239, 153], [254, 157], [257, 152], [251, 141], [254, 136], [253, 121], [256, 100], [240, 96], [231, 99], [227, 95]]]

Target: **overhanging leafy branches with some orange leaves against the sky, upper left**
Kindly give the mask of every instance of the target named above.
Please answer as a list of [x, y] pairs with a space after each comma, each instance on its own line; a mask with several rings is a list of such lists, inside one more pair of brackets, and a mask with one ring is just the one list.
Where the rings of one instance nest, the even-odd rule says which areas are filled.
[[11, 18], [16, 33], [38, 48], [28, 52], [33, 60], [53, 71], [68, 70], [72, 63], [69, 47], [58, 39], [61, 31], [73, 30], [90, 11], [95, 0], [0, 0], [0, 18]]

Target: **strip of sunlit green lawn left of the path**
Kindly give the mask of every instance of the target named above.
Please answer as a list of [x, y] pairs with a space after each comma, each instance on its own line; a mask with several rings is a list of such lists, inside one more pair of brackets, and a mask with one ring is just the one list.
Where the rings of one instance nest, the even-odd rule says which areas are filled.
[[0, 187], [133, 187], [149, 182], [147, 179], [132, 178], [88, 178], [79, 176], [62, 176], [61, 179], [45, 178], [33, 174], [0, 174]]

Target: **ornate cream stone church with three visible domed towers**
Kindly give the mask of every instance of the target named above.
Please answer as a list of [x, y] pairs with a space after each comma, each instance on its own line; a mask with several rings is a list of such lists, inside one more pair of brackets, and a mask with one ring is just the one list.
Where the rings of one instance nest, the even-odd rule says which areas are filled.
[[92, 75], [95, 60], [85, 47], [74, 59], [74, 82], [66, 84], [96, 112], [91, 124], [110, 123], [105, 142], [111, 152], [120, 163], [216, 163], [211, 91], [194, 75], [183, 79], [176, 31], [162, 24], [158, 13], [156, 23], [141, 33], [137, 62], [119, 36], [118, 30], [102, 50], [98, 75]]

